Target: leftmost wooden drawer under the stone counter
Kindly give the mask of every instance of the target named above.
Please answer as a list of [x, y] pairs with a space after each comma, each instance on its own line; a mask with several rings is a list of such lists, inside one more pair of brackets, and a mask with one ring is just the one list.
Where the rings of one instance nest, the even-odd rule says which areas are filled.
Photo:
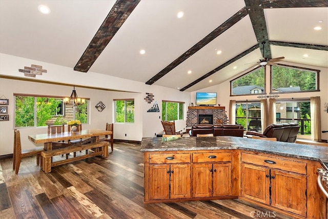
[[190, 153], [149, 154], [150, 164], [190, 163]]

